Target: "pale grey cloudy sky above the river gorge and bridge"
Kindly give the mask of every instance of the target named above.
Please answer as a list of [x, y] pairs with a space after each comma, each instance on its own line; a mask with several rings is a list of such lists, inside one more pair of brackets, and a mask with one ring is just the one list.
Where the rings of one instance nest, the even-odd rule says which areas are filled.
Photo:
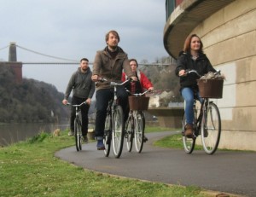
[[[9, 60], [9, 43], [18, 46], [17, 61], [63, 62], [60, 57], [94, 61], [106, 47], [105, 34], [119, 32], [119, 46], [129, 58], [153, 63], [168, 56], [163, 44], [165, 0], [0, 0], [0, 61]], [[21, 48], [25, 49], [21, 49]], [[27, 51], [36, 51], [33, 53]], [[45, 56], [49, 55], [49, 56]], [[23, 78], [53, 84], [65, 92], [77, 65], [26, 65]]]

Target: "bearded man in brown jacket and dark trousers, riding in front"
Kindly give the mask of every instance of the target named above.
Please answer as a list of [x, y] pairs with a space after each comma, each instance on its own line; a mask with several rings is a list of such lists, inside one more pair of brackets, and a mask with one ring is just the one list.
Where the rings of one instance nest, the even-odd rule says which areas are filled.
[[[91, 79], [98, 81], [99, 77], [107, 78], [108, 81], [121, 82], [122, 70], [132, 80], [137, 81], [135, 73], [131, 71], [127, 54], [118, 46], [120, 41], [118, 32], [111, 30], [106, 34], [105, 41], [107, 46], [105, 49], [96, 52], [95, 61], [93, 64], [93, 71]], [[117, 89], [117, 96], [119, 96], [120, 105], [124, 112], [128, 103], [128, 94], [125, 88], [119, 86]], [[113, 87], [108, 82], [96, 83], [96, 125], [95, 136], [97, 140], [96, 147], [98, 150], [104, 150], [103, 134], [104, 122], [106, 119], [108, 101], [113, 98]]]

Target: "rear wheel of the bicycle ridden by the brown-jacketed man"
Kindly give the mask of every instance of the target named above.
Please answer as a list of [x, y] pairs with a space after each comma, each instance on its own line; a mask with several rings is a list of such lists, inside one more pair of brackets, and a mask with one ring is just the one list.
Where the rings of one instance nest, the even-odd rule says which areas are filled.
[[111, 114], [108, 113], [106, 120], [105, 120], [105, 130], [104, 130], [104, 136], [103, 136], [103, 143], [105, 146], [104, 154], [106, 157], [108, 157], [110, 153], [111, 148]]

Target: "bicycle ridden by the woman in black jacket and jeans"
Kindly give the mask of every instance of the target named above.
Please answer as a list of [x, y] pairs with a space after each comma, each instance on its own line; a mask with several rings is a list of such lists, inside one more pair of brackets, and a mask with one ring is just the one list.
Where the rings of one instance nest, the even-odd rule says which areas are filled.
[[[187, 70], [186, 73], [195, 73], [196, 75], [201, 77], [201, 75], [195, 70]], [[219, 73], [220, 71], [215, 72], [214, 75], [217, 75]], [[213, 101], [209, 101], [208, 97], [202, 96], [201, 107], [200, 111], [198, 112], [198, 108], [196, 107], [197, 100], [197, 94], [196, 92], [194, 92], [194, 135], [192, 136], [192, 138], [183, 135], [183, 148], [185, 153], [191, 154], [195, 148], [196, 137], [201, 135], [201, 142], [204, 151], [207, 154], [214, 154], [218, 148], [218, 143], [221, 134], [221, 118], [218, 106], [215, 103], [213, 103]], [[185, 113], [183, 115], [182, 125], [182, 133], [184, 134], [186, 125]]]

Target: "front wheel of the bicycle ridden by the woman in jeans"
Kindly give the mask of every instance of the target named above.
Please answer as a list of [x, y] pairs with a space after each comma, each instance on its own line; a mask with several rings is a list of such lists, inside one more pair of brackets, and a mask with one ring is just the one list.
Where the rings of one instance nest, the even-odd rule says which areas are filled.
[[201, 123], [201, 141], [207, 154], [214, 154], [218, 148], [221, 132], [221, 121], [216, 104], [210, 102], [204, 110]]

